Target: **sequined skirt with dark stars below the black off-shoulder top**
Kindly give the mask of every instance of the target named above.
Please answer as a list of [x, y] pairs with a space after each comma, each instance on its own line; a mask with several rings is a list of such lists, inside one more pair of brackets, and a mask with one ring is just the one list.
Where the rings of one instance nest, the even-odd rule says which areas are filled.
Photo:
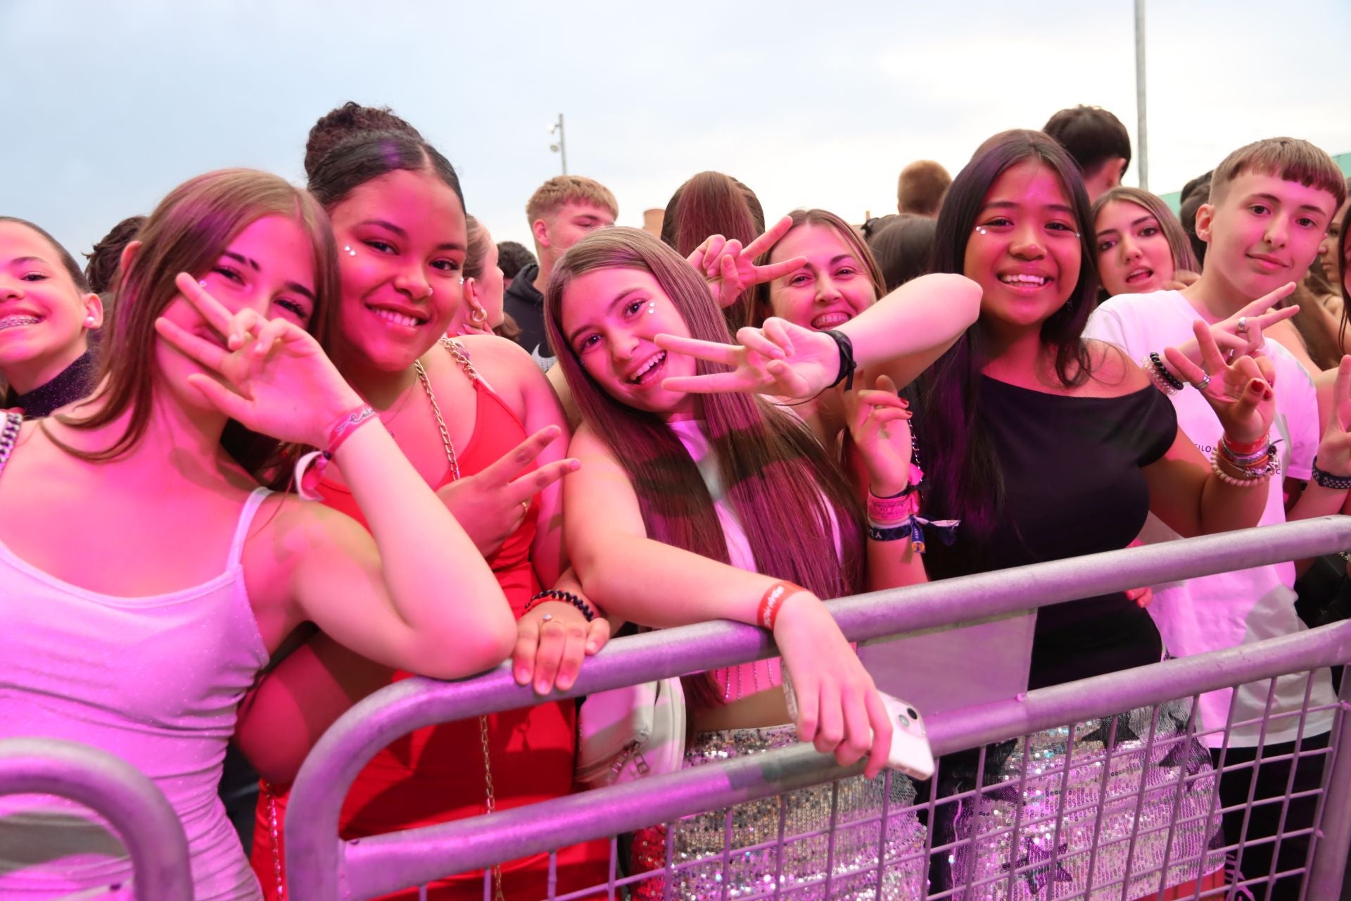
[[1077, 724], [1069, 756], [1067, 728], [996, 746], [985, 781], [993, 788], [957, 817], [954, 885], [974, 877], [969, 897], [982, 901], [1096, 901], [1154, 897], [1221, 870], [1216, 775], [1209, 752], [1186, 735], [1190, 702], [1159, 706], [1150, 746], [1152, 711]]

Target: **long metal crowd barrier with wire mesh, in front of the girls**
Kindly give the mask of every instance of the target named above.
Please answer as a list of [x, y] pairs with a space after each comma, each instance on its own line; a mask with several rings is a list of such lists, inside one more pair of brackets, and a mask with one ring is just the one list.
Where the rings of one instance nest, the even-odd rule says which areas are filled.
[[[831, 602], [831, 612], [847, 638], [863, 640], [979, 620], [1139, 585], [1156, 585], [1308, 558], [1347, 547], [1351, 547], [1351, 517], [1324, 517], [840, 598]], [[773, 654], [774, 647], [769, 634], [748, 625], [719, 621], [663, 629], [612, 643], [588, 661], [570, 692], [555, 693], [551, 697], [557, 700], [584, 696], [655, 678], [761, 659]], [[928, 732], [935, 754], [948, 754], [1093, 717], [1112, 717], [1132, 708], [1152, 705], [1154, 721], [1158, 721], [1158, 705], [1175, 698], [1194, 701], [1196, 696], [1208, 690], [1308, 673], [1347, 661], [1351, 661], [1351, 624], [1335, 624], [1259, 644], [1167, 661], [932, 716], [928, 719]], [[1333, 705], [1335, 720], [1329, 747], [1323, 751], [1327, 766], [1316, 828], [1306, 831], [1312, 832], [1308, 862], [1294, 873], [1306, 878], [1302, 897], [1315, 901], [1337, 897], [1347, 851], [1351, 847], [1351, 802], [1348, 802], [1351, 759], [1344, 752], [1351, 750], [1351, 719], [1346, 716], [1351, 708], [1348, 688], [1343, 689], [1342, 700]], [[805, 786], [835, 782], [855, 775], [862, 769], [836, 767], [834, 761], [817, 755], [809, 746], [796, 746], [500, 810], [492, 816], [353, 842], [338, 838], [339, 812], [347, 789], [380, 748], [423, 725], [530, 706], [536, 701], [530, 688], [517, 686], [511, 678], [509, 669], [503, 666], [490, 674], [465, 682], [405, 679], [354, 706], [319, 742], [301, 767], [293, 788], [286, 816], [290, 897], [303, 901], [369, 898], [424, 885], [447, 874], [486, 869], [500, 862], [600, 838], [611, 838], [609, 882], [585, 893], [559, 897], [624, 897], [627, 890], [624, 886], [632, 886], [640, 877], [617, 874], [617, 844], [613, 836], [654, 823], [673, 823], [680, 817], [717, 812], [755, 798], [782, 796]], [[1301, 724], [1310, 712], [1313, 709], [1309, 706], [1306, 693], [1304, 711], [1298, 715]], [[1232, 725], [1235, 724], [1225, 727], [1225, 746], [1228, 728]], [[1115, 733], [1116, 725], [1112, 729]], [[1194, 733], [1193, 721], [1188, 724], [1188, 738]], [[1262, 735], [1265, 740], [1265, 724]], [[1147, 738], [1152, 744], [1152, 725]], [[1108, 743], [1111, 744], [1111, 739]], [[1305, 754], [1297, 746], [1294, 756]], [[1229, 769], [1223, 758], [1220, 766]], [[1179, 797], [1193, 778], [1185, 773], [1179, 774], [1177, 781]], [[1016, 785], [1021, 789], [1025, 779], [1024, 773], [1023, 782]], [[982, 789], [978, 785], [977, 792], [979, 790]], [[1142, 797], [1143, 792], [1142, 789]], [[967, 797], [974, 796], [975, 792], [967, 793]], [[832, 794], [832, 805], [836, 797], [838, 790]], [[938, 798], [938, 804], [947, 800], [951, 798]], [[1251, 793], [1247, 806], [1252, 806]], [[913, 809], [927, 809], [932, 815], [934, 808], [935, 800], [931, 798]], [[1282, 806], [1282, 829], [1283, 810]], [[1055, 838], [1059, 838], [1063, 812], [1062, 804], [1056, 816]], [[1242, 809], [1239, 813], [1247, 816]], [[882, 821], [885, 820], [884, 809]], [[727, 815], [727, 823], [731, 836], [731, 813]], [[1171, 828], [1170, 825], [1170, 836]], [[780, 842], [782, 838], [781, 828]], [[834, 836], [827, 835], [827, 840], [834, 847]], [[1275, 840], [1279, 843], [1281, 838]], [[1135, 831], [1129, 842], [1133, 850]], [[773, 846], [774, 842], [769, 842], [766, 847]], [[936, 846], [931, 829], [924, 855], [952, 847]], [[1242, 847], [1238, 850], [1242, 854]], [[670, 870], [673, 862], [669, 843], [666, 852]], [[551, 866], [553, 863], [551, 859]], [[1006, 879], [1005, 877], [1001, 879], [1006, 881], [1009, 889], [1016, 877], [1025, 877], [1029, 870], [1036, 870], [1024, 863], [1025, 860], [1021, 863], [1011, 860], [1005, 867]], [[1055, 866], [1054, 851], [1050, 865]], [[730, 866], [727, 850], [723, 854], [723, 866]], [[1167, 859], [1163, 866], [1167, 869]], [[1044, 865], [1039, 871], [1044, 875]], [[1056, 871], [1051, 873], [1054, 875]], [[1260, 881], [1260, 877], [1271, 874], [1258, 875]], [[831, 878], [832, 875], [827, 873], [827, 893]], [[1123, 879], [1120, 885], [1121, 887], [1108, 897], [1128, 898], [1125, 881]], [[485, 874], [485, 898], [489, 897], [489, 889]], [[1221, 887], [1202, 893], [1198, 886], [1194, 897], [1223, 897], [1225, 890]], [[777, 892], [778, 889], [771, 887], [754, 897], [778, 897]], [[1054, 892], [1055, 886], [1050, 885], [1047, 894], [1038, 897], [1052, 897]], [[882, 897], [881, 887], [877, 896]], [[553, 889], [550, 897], [554, 897]], [[680, 897], [671, 894], [670, 879], [666, 881], [665, 897]], [[967, 896], [962, 894], [961, 889], [954, 889], [929, 897], [988, 896]], [[1054, 897], [1067, 896], [1054, 894]], [[1092, 897], [1102, 896], [1094, 889]]]

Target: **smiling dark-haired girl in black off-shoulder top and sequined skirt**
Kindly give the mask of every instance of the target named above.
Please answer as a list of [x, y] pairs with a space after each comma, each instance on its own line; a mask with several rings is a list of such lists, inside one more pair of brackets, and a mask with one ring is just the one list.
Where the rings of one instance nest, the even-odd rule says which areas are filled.
[[[1209, 376], [1167, 351], [1224, 424], [1213, 465], [1205, 461], [1151, 384], [1171, 378], [1156, 361], [1142, 370], [1119, 350], [1081, 338], [1097, 292], [1090, 227], [1074, 163], [1040, 132], [996, 135], [952, 182], [939, 215], [935, 269], [977, 280], [984, 300], [979, 321], [920, 381], [919, 438], [932, 477], [925, 504], [934, 516], [962, 520], [955, 544], [928, 555], [932, 577], [1121, 548], [1148, 512], [1181, 535], [1248, 527], [1262, 513], [1265, 492], [1252, 486], [1273, 471], [1270, 362], [1227, 363], [1200, 324]], [[1162, 651], [1148, 613], [1124, 594], [1044, 607], [1029, 688], [1158, 662]], [[1125, 879], [1127, 897], [1152, 897], [1198, 877], [1213, 882], [1223, 869], [1223, 855], [1206, 850], [1219, 825], [1208, 815], [1215, 785], [1208, 755], [1185, 735], [1189, 716], [1189, 705], [1177, 702], [1161, 706], [1156, 721], [1143, 709], [1077, 724], [1069, 773], [1065, 729], [990, 748], [986, 785], [1027, 775], [1029, 800], [997, 789], [962, 805], [955, 838], [965, 843], [952, 879], [974, 879], [992, 897], [1012, 885], [1015, 898], [1040, 897], [1050, 881], [1063, 883], [1056, 892], [1073, 892], [1090, 879], [1094, 889]], [[1024, 774], [1024, 754], [1035, 771]], [[940, 793], [970, 788], [973, 763], [948, 761]], [[1183, 777], [1189, 783], [1179, 794]], [[1094, 835], [1104, 781], [1123, 797], [1105, 806], [1102, 832]], [[1128, 851], [1142, 792], [1142, 833]], [[1055, 823], [1062, 796], [1071, 804], [1061, 847], [1051, 848], [1047, 823]], [[1170, 844], [1175, 797], [1181, 813]], [[1019, 806], [1019, 833], [998, 833]], [[1052, 854], [1055, 865], [1046, 865]], [[1161, 879], [1166, 858], [1173, 863]], [[1120, 897], [1121, 887], [1104, 892]]]

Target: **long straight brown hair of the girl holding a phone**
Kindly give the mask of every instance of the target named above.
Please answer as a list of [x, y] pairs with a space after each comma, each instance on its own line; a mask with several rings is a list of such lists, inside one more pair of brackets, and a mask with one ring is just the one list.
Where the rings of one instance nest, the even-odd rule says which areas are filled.
[[[605, 393], [563, 336], [563, 292], [578, 276], [598, 269], [650, 273], [694, 338], [731, 340], [721, 311], [680, 254], [636, 228], [605, 228], [584, 238], [559, 259], [544, 292], [549, 339], [567, 386], [586, 424], [624, 467], [648, 538], [727, 563], [713, 498], [680, 439], [657, 415]], [[723, 367], [698, 361], [696, 371]], [[793, 580], [823, 598], [858, 592], [862, 513], [844, 475], [805, 424], [753, 394], [707, 394], [700, 403], [721, 484], [757, 570]], [[843, 554], [835, 550], [832, 519]]]

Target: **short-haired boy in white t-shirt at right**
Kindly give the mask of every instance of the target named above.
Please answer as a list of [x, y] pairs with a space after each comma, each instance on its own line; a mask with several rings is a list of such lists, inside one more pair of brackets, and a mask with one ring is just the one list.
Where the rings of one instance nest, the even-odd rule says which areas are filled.
[[[1351, 438], [1335, 420], [1327, 430], [1323, 428], [1313, 382], [1294, 357], [1275, 342], [1260, 346], [1260, 332], [1254, 327], [1255, 321], [1250, 321], [1255, 317], [1239, 319], [1243, 308], [1255, 299], [1304, 276], [1344, 200], [1346, 181], [1337, 166], [1325, 153], [1304, 140], [1273, 138], [1233, 151], [1215, 170], [1210, 203], [1197, 212], [1197, 236], [1209, 244], [1201, 278], [1182, 290], [1117, 294], [1093, 313], [1084, 332], [1086, 338], [1117, 344], [1133, 359], [1142, 361], [1146, 369], [1155, 367], [1151, 353], [1159, 353], [1162, 359], [1165, 347], [1188, 342], [1197, 319], [1210, 323], [1212, 328], [1238, 332], [1239, 338], [1260, 347], [1275, 367], [1277, 416], [1271, 440], [1278, 450], [1279, 474], [1313, 480], [1289, 513], [1282, 480], [1269, 480], [1260, 525], [1339, 513], [1346, 504]], [[1167, 373], [1156, 373], [1156, 384], [1185, 381], [1166, 361], [1165, 365]], [[1209, 457], [1221, 431], [1210, 407], [1200, 392], [1190, 389], [1171, 393], [1170, 400], [1177, 408], [1178, 426]], [[1142, 538], [1158, 542], [1178, 535], [1151, 516]], [[1202, 654], [1304, 629], [1294, 612], [1293, 586], [1293, 563], [1155, 585], [1150, 613], [1170, 654]], [[1219, 748], [1223, 742], [1220, 731], [1229, 721], [1233, 708], [1236, 725], [1229, 735], [1227, 767], [1255, 759], [1269, 688], [1270, 681], [1263, 681], [1201, 697], [1201, 725], [1217, 729], [1204, 736], [1212, 748]], [[1302, 675], [1278, 679], [1262, 748], [1263, 759], [1294, 751], [1306, 688], [1310, 689], [1310, 706], [1335, 702], [1325, 669], [1312, 675], [1312, 688], [1309, 678]], [[1244, 721], [1251, 723], [1238, 725]], [[1325, 747], [1331, 727], [1331, 709], [1310, 713], [1304, 723], [1301, 750]], [[1217, 750], [1212, 752], [1219, 758]], [[1300, 759], [1294, 792], [1319, 788], [1323, 761], [1321, 755]], [[1256, 770], [1255, 801], [1286, 796], [1289, 766], [1289, 762], [1263, 763]], [[1225, 806], [1247, 802], [1251, 778], [1248, 769], [1221, 777], [1220, 794]], [[1315, 806], [1315, 797], [1292, 801], [1286, 832], [1310, 827]], [[1255, 806], [1246, 833], [1243, 810], [1227, 815], [1227, 843], [1235, 844], [1240, 839], [1255, 842], [1275, 835], [1281, 808], [1279, 801]], [[1247, 878], [1267, 875], [1273, 847], [1267, 842], [1242, 850], [1240, 866]], [[1277, 871], [1302, 867], [1306, 852], [1308, 838], [1282, 839]], [[1300, 878], [1292, 877], [1277, 882], [1270, 897], [1293, 898], [1298, 889]], [[1262, 886], [1254, 886], [1254, 892], [1259, 898], [1267, 897]]]

